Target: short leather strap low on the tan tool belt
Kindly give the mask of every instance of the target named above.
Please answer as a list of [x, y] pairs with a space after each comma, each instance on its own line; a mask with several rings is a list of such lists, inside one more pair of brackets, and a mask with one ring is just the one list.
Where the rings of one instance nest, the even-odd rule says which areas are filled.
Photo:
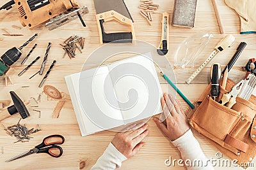
[[233, 138], [229, 134], [225, 138], [224, 142], [230, 146], [233, 146], [234, 148], [237, 148], [237, 150], [241, 150], [244, 153], [246, 153], [249, 148], [248, 144], [244, 143], [243, 141], [240, 141], [239, 139]]

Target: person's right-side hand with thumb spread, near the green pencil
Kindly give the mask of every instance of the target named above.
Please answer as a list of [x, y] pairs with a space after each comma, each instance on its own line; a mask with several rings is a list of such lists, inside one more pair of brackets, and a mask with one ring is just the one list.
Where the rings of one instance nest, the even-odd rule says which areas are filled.
[[164, 94], [161, 98], [161, 104], [164, 117], [166, 117], [166, 125], [160, 122], [156, 117], [154, 117], [154, 121], [157, 127], [159, 127], [171, 141], [175, 141], [189, 130], [187, 117], [179, 102], [174, 100], [170, 94]]

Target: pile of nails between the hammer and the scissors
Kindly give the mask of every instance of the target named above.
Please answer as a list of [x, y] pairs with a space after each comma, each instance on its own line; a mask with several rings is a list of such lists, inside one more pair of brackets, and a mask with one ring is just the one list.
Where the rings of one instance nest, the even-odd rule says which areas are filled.
[[[20, 118], [20, 120], [21, 120], [21, 118]], [[28, 142], [31, 138], [33, 138], [29, 135], [34, 134], [38, 131], [42, 131], [42, 129], [40, 128], [40, 126], [38, 124], [37, 124], [36, 129], [32, 128], [32, 129], [28, 130], [28, 128], [26, 127], [25, 124], [24, 125], [20, 124], [20, 120], [19, 120], [18, 124], [9, 126], [7, 128], [4, 127], [4, 125], [2, 125], [4, 128], [4, 131], [6, 131], [6, 134], [9, 134], [10, 136], [14, 136], [15, 138], [18, 139], [18, 141], [15, 141], [14, 143], [17, 143], [19, 141], [22, 143]]]

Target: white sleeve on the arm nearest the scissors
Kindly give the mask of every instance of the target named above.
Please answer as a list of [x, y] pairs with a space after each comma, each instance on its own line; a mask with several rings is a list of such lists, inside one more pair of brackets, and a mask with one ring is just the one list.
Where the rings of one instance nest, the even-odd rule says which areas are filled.
[[91, 170], [113, 170], [119, 168], [124, 160], [127, 158], [112, 143], [109, 143], [108, 148]]

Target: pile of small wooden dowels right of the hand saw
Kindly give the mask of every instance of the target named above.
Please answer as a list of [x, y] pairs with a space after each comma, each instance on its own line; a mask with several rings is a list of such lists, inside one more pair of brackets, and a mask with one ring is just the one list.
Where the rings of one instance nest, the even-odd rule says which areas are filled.
[[152, 13], [154, 13], [154, 11], [158, 10], [159, 5], [158, 4], [153, 4], [153, 1], [151, 0], [140, 0], [141, 4], [139, 6], [140, 10], [140, 14], [142, 15], [142, 17], [144, 17], [149, 25], [152, 25]]

